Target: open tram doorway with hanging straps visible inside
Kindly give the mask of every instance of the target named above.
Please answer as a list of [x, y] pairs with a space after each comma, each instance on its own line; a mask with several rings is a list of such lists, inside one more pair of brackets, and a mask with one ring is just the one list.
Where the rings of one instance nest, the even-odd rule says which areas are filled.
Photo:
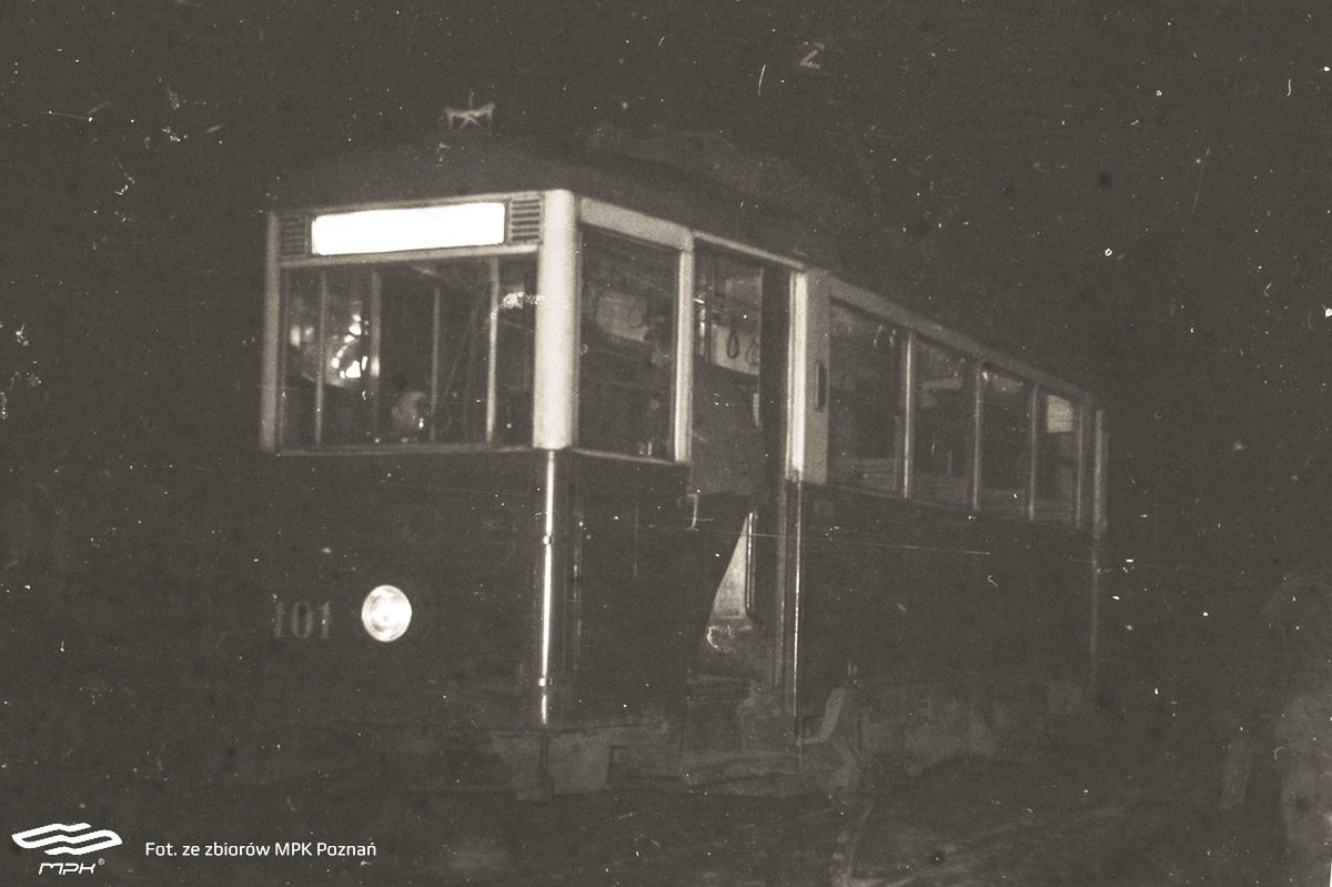
[[695, 253], [691, 491], [714, 618], [775, 613], [790, 285], [785, 268]]

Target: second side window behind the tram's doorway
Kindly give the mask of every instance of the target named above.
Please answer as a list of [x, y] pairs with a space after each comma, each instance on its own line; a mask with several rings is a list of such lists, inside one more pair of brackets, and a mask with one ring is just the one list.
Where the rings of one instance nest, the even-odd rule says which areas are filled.
[[966, 506], [971, 490], [972, 365], [932, 342], [916, 346], [914, 494]]

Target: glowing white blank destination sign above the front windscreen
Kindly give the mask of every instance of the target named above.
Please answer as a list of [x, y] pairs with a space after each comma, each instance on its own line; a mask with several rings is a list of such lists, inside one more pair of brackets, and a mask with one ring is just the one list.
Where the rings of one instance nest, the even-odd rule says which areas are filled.
[[494, 246], [503, 238], [503, 204], [366, 209], [316, 216], [310, 222], [310, 252], [316, 256]]

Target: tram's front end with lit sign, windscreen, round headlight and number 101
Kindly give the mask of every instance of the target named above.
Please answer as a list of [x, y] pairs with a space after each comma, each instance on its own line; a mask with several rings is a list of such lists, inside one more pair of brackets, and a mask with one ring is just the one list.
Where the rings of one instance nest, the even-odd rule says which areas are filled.
[[583, 739], [553, 733], [575, 237], [566, 190], [272, 214], [237, 768], [530, 787]]

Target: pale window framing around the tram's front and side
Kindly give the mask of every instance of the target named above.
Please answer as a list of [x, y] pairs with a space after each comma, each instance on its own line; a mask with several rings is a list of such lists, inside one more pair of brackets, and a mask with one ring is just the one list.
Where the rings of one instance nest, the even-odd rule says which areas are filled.
[[[1096, 531], [1099, 522], [1103, 522], [1104, 494], [1099, 489], [1104, 474], [1104, 410], [1099, 401], [1086, 390], [1062, 381], [1048, 373], [1040, 372], [1019, 360], [1011, 358], [1000, 352], [982, 346], [971, 338], [939, 325], [922, 314], [902, 308], [891, 301], [887, 292], [871, 292], [848, 284], [835, 274], [810, 266], [806, 262], [781, 256], [765, 249], [753, 248], [725, 237], [694, 230], [686, 225], [666, 221], [663, 218], [625, 209], [615, 204], [583, 197], [563, 190], [541, 192], [509, 192], [498, 194], [469, 194], [466, 197], [449, 200], [413, 200], [413, 201], [380, 201], [362, 204], [341, 204], [334, 206], [293, 208], [290, 212], [314, 217], [321, 213], [356, 212], [360, 209], [392, 209], [412, 208], [445, 204], [468, 204], [486, 201], [506, 201], [510, 205], [518, 200], [537, 198], [542, 202], [541, 236], [534, 241], [509, 242], [494, 246], [460, 246], [448, 249], [404, 250], [393, 253], [360, 253], [348, 256], [284, 256], [281, 220], [288, 210], [269, 213], [268, 225], [268, 254], [269, 261], [265, 268], [265, 340], [262, 346], [261, 393], [260, 393], [260, 446], [264, 450], [278, 454], [345, 454], [345, 453], [401, 453], [414, 450], [444, 450], [444, 451], [492, 451], [503, 449], [554, 447], [554, 449], [582, 449], [577, 441], [578, 428], [578, 397], [579, 397], [579, 346], [581, 342], [581, 245], [583, 228], [601, 229], [607, 234], [629, 240], [642, 241], [653, 246], [671, 249], [677, 254], [678, 280], [675, 288], [675, 344], [674, 366], [671, 385], [671, 454], [670, 458], [655, 455], [634, 455], [625, 453], [597, 453], [609, 458], [647, 461], [655, 463], [690, 463], [691, 454], [691, 405], [693, 405], [693, 374], [694, 374], [694, 276], [695, 276], [695, 248], [706, 246], [734, 254], [741, 258], [755, 260], [765, 264], [778, 265], [791, 272], [790, 302], [789, 302], [789, 341], [787, 348], [787, 447], [786, 447], [786, 474], [795, 481], [809, 481], [827, 483], [827, 402], [819, 404], [818, 378], [819, 373], [829, 370], [827, 342], [813, 342], [811, 337], [830, 334], [831, 304], [840, 302], [847, 308], [864, 312], [871, 317], [892, 324], [903, 336], [902, 344], [902, 478], [899, 490], [878, 490], [855, 485], [831, 483], [855, 490], [866, 495], [887, 495], [891, 498], [911, 501], [930, 507], [942, 507], [952, 511], [966, 511], [970, 514], [984, 514], [995, 519], [1024, 519], [1070, 530]], [[558, 242], [555, 242], [558, 241]], [[284, 441], [284, 417], [281, 409], [281, 396], [285, 388], [285, 322], [286, 322], [286, 293], [285, 276], [297, 269], [329, 269], [357, 265], [386, 266], [393, 264], [420, 264], [440, 262], [453, 260], [489, 260], [492, 266], [506, 257], [531, 257], [537, 261], [537, 289], [538, 293], [553, 293], [569, 289], [569, 298], [545, 300], [559, 301], [559, 305], [538, 305], [533, 330], [533, 434], [531, 441], [523, 444], [440, 444], [440, 442], [410, 442], [410, 444], [338, 444], [325, 445], [322, 441], [310, 445], [288, 446]], [[547, 261], [549, 260], [549, 261]], [[374, 274], [378, 278], [378, 273]], [[321, 290], [326, 286], [321, 285]], [[321, 322], [326, 310], [326, 292], [321, 292]], [[377, 300], [376, 300], [377, 301]], [[569, 304], [563, 304], [567, 301]], [[569, 330], [569, 320], [574, 320], [573, 329]], [[554, 320], [554, 324], [543, 322]], [[545, 329], [549, 325], [549, 329]], [[545, 333], [542, 332], [545, 329]], [[571, 334], [570, 334], [571, 332]], [[378, 324], [372, 326], [372, 336], [378, 334]], [[490, 338], [494, 340], [496, 329], [492, 324]], [[970, 434], [970, 455], [972, 470], [970, 478], [970, 495], [967, 505], [956, 506], [942, 502], [922, 499], [914, 485], [915, 462], [915, 432], [918, 418], [918, 404], [915, 397], [916, 373], [919, 370], [918, 349], [922, 341], [935, 342], [944, 349], [950, 349], [971, 361], [972, 394], [975, 397], [972, 428]], [[490, 413], [494, 412], [494, 342], [490, 344], [488, 366], [488, 440], [493, 440], [493, 422]], [[559, 378], [543, 378], [550, 373], [542, 373], [542, 366], [547, 370], [553, 364], [563, 362], [559, 368]], [[980, 373], [983, 368], [992, 368], [1014, 376], [1027, 384], [1030, 392], [1028, 416], [1028, 449], [1030, 462], [1027, 466], [1028, 495], [1024, 514], [1004, 514], [994, 510], [982, 511], [980, 505], [980, 433], [983, 430], [983, 390], [980, 388]], [[376, 368], [377, 374], [378, 368]], [[322, 368], [321, 368], [322, 373]], [[373, 381], [373, 380], [372, 380]], [[1042, 518], [1036, 509], [1036, 482], [1039, 471], [1039, 410], [1038, 398], [1044, 393], [1055, 394], [1070, 401], [1078, 412], [1078, 465], [1076, 485], [1074, 495], [1074, 519]], [[316, 400], [322, 398], [322, 385], [316, 389]], [[567, 404], [565, 402], [567, 401]], [[313, 429], [312, 429], [313, 430]], [[312, 434], [313, 437], [313, 434]], [[583, 450], [591, 453], [591, 450]]]

